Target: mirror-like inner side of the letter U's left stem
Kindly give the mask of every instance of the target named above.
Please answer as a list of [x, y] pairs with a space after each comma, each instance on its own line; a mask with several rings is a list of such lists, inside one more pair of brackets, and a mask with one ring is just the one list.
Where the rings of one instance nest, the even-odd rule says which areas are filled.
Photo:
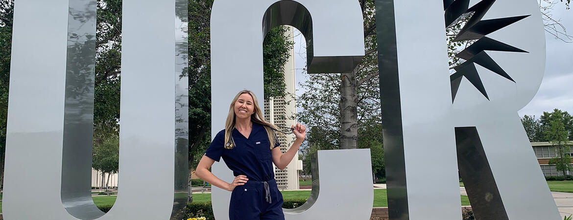
[[68, 213], [79, 219], [104, 215], [91, 192], [96, 4], [69, 2], [61, 199]]

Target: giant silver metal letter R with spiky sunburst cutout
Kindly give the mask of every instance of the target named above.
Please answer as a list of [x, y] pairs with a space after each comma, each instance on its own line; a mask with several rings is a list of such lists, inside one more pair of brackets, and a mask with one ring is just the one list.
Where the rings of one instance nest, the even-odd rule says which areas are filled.
[[[477, 194], [477, 201], [472, 201], [477, 215], [484, 219], [559, 219], [517, 115], [543, 78], [544, 30], [536, 1], [496, 1], [488, 9], [484, 4], [493, 1], [394, 2], [398, 1], [375, 1], [390, 219], [461, 219], [456, 139], [460, 147], [466, 146], [460, 149], [464, 151], [460, 153], [462, 175], [480, 175], [480, 179], [466, 177], [470, 197], [476, 200]], [[460, 56], [472, 63], [458, 71], [480, 74], [489, 100], [463, 78], [457, 85], [450, 84], [445, 27], [460, 16], [453, 10], [460, 7], [481, 11], [475, 11], [473, 16], [479, 19], [473, 22], [477, 23], [460, 37], [480, 40], [462, 51]], [[519, 17], [524, 15], [531, 16]], [[520, 21], [501, 28], [511, 22], [494, 20], [506, 17]], [[484, 21], [503, 25], [484, 26], [480, 23]], [[419, 33], [423, 41], [417, 40]], [[496, 74], [483, 74], [488, 71]], [[509, 77], [507, 73], [515, 74]], [[457, 87], [454, 103], [452, 87]], [[474, 135], [464, 137], [456, 130], [468, 126], [474, 127]], [[469, 137], [473, 150], [464, 145]], [[477, 151], [482, 156], [465, 156]], [[481, 161], [480, 170], [467, 169], [472, 159]], [[480, 193], [489, 196], [479, 198]]]

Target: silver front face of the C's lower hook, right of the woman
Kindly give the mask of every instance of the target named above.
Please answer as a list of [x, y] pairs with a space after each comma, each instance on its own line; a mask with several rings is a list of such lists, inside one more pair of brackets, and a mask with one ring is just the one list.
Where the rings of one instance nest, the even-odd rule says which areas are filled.
[[[374, 192], [371, 161], [364, 159], [368, 157], [370, 149], [314, 153], [311, 195], [302, 206], [284, 209], [285, 219], [370, 219]], [[344, 193], [344, 186], [352, 186], [352, 191]]]

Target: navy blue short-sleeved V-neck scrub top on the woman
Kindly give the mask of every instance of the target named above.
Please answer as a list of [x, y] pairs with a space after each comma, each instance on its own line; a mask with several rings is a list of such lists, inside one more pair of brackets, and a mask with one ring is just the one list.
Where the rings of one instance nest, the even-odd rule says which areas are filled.
[[[245, 138], [237, 129], [233, 129], [231, 135], [236, 145], [233, 149], [225, 149], [225, 129], [223, 129], [215, 135], [205, 155], [217, 162], [222, 157], [227, 167], [233, 170], [235, 177], [246, 175], [249, 181], [274, 179], [273, 159], [265, 127], [253, 122], [249, 138]], [[277, 146], [280, 146], [278, 140], [275, 141], [274, 147]]]

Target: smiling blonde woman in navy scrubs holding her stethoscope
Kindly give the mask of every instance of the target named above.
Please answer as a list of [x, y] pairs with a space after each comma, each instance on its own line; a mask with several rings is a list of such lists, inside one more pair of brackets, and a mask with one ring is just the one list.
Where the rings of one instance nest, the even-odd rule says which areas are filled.
[[[243, 90], [229, 107], [225, 129], [219, 131], [205, 155], [199, 161], [195, 174], [221, 189], [232, 191], [229, 218], [284, 219], [282, 194], [274, 180], [273, 165], [285, 169], [295, 157], [306, 135], [306, 127], [292, 126], [296, 140], [291, 149], [282, 154], [274, 130], [266, 122], [252, 91]], [[235, 178], [227, 183], [209, 171], [219, 158], [225, 159]]]

